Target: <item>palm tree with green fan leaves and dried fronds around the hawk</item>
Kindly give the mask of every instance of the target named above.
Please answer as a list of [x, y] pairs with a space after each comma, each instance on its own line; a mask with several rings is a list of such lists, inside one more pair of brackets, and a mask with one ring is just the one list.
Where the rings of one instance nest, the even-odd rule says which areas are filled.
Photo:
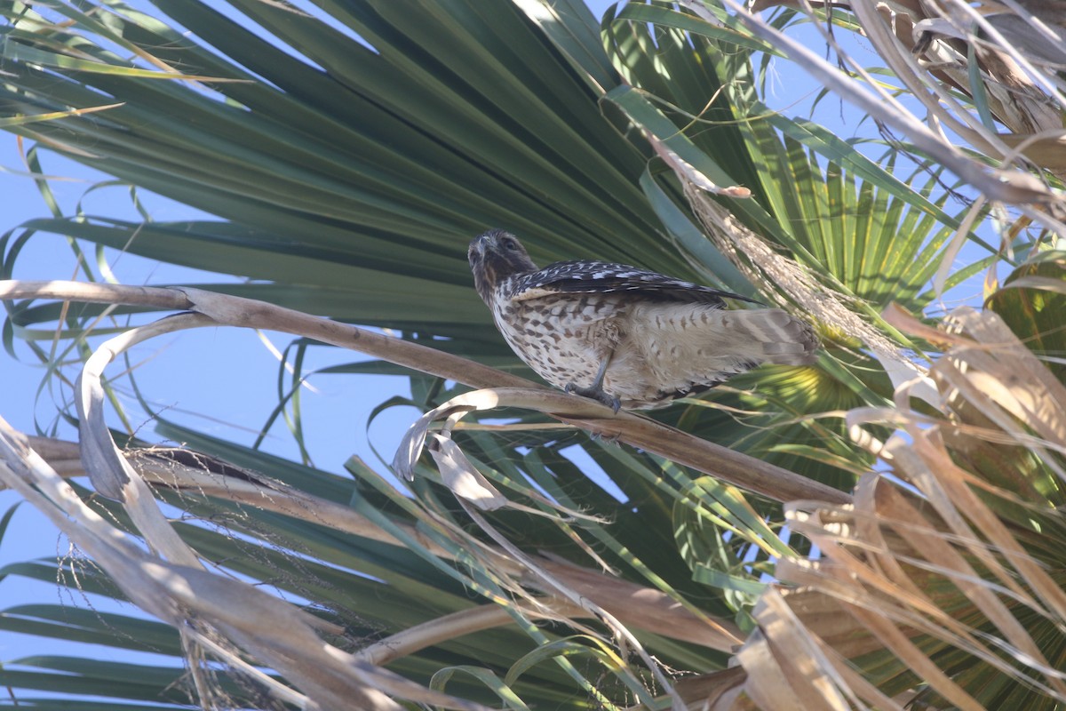
[[[52, 231], [244, 278], [4, 287], [77, 302], [10, 302], [7, 332], [43, 359], [96, 355], [64, 413], [80, 449], [14, 435], [5, 459], [21, 464], [0, 474], [98, 566], [65, 564], [64, 584], [166, 624], [33, 604], [0, 626], [174, 660], [22, 659], [4, 683], [81, 699], [19, 697], [34, 708], [1055, 708], [1066, 398], [1061, 366], [1033, 354], [1063, 349], [1048, 248], [1064, 235], [1063, 86], [1053, 43], [997, 28], [1053, 36], [1062, 21], [1035, 2], [1043, 21], [947, 4], [942, 18], [887, 22], [859, 0], [814, 17], [865, 33], [897, 94], [967, 151], [874, 75], [790, 39], [802, 16], [731, 0], [630, 3], [601, 23], [574, 2], [0, 2], [5, 128], [219, 217], [33, 221], [3, 239], [4, 277]], [[921, 20], [928, 70], [891, 33]], [[866, 111], [881, 155], [768, 108], [771, 56]], [[1002, 205], [1008, 248], [955, 266]], [[607, 418], [531, 388], [502, 348], [464, 260], [491, 225], [542, 262], [758, 291], [808, 314], [824, 354], [656, 420]], [[995, 260], [1011, 274], [986, 311], [953, 312], [950, 330], [907, 313]], [[145, 321], [158, 310], [191, 312]], [[404, 402], [427, 411], [395, 459], [414, 483], [357, 458], [341, 478], [165, 413], [154, 434], [184, 447], [151, 447], [117, 397], [135, 381], [106, 367], [214, 324], [300, 337], [275, 415], [301, 442], [308, 339], [379, 358], [350, 372], [408, 374]], [[59, 357], [37, 343], [56, 332]], [[120, 335], [93, 340], [104, 332]], [[54, 580], [55, 565], [6, 573]]]

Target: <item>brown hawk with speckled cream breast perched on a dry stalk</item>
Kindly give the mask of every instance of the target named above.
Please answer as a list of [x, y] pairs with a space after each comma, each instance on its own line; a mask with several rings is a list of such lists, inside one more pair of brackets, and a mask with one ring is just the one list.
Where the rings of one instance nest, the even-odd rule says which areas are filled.
[[538, 270], [521, 243], [492, 229], [470, 243], [478, 293], [496, 327], [556, 387], [618, 411], [662, 407], [763, 362], [813, 362], [810, 326], [781, 309], [635, 266], [561, 261]]

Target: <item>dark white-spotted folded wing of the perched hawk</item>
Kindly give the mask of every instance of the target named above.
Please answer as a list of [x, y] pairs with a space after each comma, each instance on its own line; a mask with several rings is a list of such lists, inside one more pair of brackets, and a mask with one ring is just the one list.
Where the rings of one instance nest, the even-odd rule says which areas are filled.
[[548, 264], [537, 272], [514, 277], [507, 288], [507, 297], [518, 302], [562, 293], [623, 293], [657, 302], [710, 304], [717, 308], [725, 308], [723, 298], [761, 304], [747, 296], [675, 279], [628, 264], [584, 259]]

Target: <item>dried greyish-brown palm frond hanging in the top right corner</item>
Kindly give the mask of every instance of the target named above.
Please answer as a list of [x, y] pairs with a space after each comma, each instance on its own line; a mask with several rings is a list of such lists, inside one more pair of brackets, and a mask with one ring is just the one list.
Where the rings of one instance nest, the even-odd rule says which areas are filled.
[[[811, 12], [821, 2], [759, 0]], [[1063, 177], [1066, 166], [1066, 14], [1045, 0], [835, 3], [855, 14], [874, 51], [909, 96], [951, 131], [1004, 165], [1018, 153]], [[861, 74], [836, 42], [844, 63]], [[968, 99], [969, 102], [962, 99]], [[875, 118], [878, 112], [871, 112]], [[999, 122], [1006, 131], [997, 131]], [[946, 133], [943, 143], [950, 144]]]

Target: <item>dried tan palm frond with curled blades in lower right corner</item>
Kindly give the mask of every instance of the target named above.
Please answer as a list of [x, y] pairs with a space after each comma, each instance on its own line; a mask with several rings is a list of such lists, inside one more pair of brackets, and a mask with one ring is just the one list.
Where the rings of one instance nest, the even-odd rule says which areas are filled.
[[853, 505], [787, 506], [822, 555], [777, 566], [786, 584], [738, 656], [743, 689], [774, 711], [1053, 708], [1066, 701], [1066, 388], [995, 312], [958, 309], [944, 332], [889, 318], [947, 346], [930, 371], [940, 407], [901, 388], [895, 407], [851, 413], [856, 431], [897, 427], [863, 437], [887, 468]]

